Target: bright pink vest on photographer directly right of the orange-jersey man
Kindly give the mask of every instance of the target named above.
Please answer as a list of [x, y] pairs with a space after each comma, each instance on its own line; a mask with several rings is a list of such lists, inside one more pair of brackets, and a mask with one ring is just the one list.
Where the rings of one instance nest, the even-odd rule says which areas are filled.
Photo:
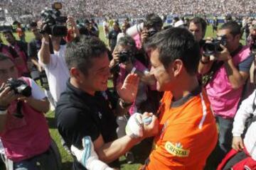
[[[233, 57], [233, 63], [237, 67], [249, 55], [249, 47], [242, 47], [242, 50]], [[215, 115], [220, 115], [223, 118], [234, 118], [238, 109], [242, 88], [243, 86], [240, 86], [239, 89], [232, 88], [223, 64], [206, 86], [208, 98]]]

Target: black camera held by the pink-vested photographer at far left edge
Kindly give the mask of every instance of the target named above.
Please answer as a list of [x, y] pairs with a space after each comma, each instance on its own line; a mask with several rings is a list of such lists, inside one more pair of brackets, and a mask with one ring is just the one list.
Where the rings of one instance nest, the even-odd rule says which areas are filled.
[[22, 96], [29, 97], [32, 94], [31, 86], [28, 86], [26, 82], [20, 79], [9, 79], [6, 81], [6, 85], [14, 90], [15, 94], [21, 94]]

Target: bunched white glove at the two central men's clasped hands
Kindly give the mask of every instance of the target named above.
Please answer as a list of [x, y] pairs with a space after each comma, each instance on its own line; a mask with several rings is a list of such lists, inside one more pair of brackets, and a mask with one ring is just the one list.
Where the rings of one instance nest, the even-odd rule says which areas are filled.
[[125, 132], [132, 138], [143, 137], [144, 124], [151, 123], [151, 117], [142, 118], [141, 113], [134, 113], [128, 120]]

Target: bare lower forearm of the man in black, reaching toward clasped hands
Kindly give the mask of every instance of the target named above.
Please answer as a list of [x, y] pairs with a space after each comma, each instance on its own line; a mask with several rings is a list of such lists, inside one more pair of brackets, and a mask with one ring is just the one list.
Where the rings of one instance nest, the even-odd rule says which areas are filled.
[[140, 138], [132, 139], [131, 137], [125, 135], [124, 137], [114, 140], [113, 142], [106, 143], [96, 152], [102, 162], [110, 163], [121, 157], [123, 154], [125, 154], [125, 152], [129, 151], [129, 149], [140, 141]]

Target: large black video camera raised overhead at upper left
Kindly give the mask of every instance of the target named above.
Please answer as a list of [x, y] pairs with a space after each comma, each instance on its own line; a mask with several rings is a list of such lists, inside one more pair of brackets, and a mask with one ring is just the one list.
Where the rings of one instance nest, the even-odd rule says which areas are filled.
[[64, 37], [68, 34], [68, 28], [61, 23], [65, 23], [68, 18], [66, 16], [60, 16], [60, 9], [62, 4], [55, 2], [52, 8], [46, 8], [41, 11], [41, 18], [43, 21], [43, 29], [40, 33], [47, 33], [56, 37]]

